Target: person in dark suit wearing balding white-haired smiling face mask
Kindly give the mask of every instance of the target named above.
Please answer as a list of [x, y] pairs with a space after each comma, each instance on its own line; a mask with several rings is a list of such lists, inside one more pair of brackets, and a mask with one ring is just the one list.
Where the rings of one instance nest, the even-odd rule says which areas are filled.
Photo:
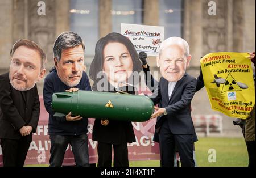
[[[194, 166], [191, 100], [196, 90], [196, 79], [185, 72], [191, 55], [187, 41], [170, 37], [160, 45], [157, 63], [162, 77], [156, 96], [152, 98], [158, 117], [155, 138], [159, 137], [161, 166], [174, 166], [175, 144], [181, 166]], [[159, 117], [160, 116], [160, 117]]]

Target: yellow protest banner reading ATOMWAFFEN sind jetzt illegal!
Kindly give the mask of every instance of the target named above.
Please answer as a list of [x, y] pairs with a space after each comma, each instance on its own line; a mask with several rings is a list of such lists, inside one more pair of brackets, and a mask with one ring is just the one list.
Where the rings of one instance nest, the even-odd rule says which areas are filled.
[[247, 118], [255, 104], [253, 70], [247, 53], [210, 53], [201, 58], [204, 84], [212, 109]]

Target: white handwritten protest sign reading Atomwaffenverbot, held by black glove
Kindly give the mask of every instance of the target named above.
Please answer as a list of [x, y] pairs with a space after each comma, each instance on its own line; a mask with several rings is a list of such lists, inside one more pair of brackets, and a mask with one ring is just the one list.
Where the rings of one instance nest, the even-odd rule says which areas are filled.
[[131, 40], [138, 53], [144, 51], [148, 56], [157, 56], [164, 40], [164, 27], [122, 23], [121, 34]]

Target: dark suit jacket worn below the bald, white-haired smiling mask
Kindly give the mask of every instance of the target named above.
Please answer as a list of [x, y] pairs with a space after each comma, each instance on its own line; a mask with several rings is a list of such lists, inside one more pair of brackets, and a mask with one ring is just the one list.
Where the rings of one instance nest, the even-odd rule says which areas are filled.
[[159, 104], [159, 107], [166, 108], [168, 115], [158, 118], [155, 125], [156, 132], [159, 132], [163, 122], [168, 120], [169, 128], [173, 134], [195, 133], [191, 117], [191, 100], [195, 90], [196, 79], [185, 73], [183, 78], [177, 81], [169, 100], [168, 81], [163, 77], [160, 78], [158, 95], [151, 99], [155, 105]]

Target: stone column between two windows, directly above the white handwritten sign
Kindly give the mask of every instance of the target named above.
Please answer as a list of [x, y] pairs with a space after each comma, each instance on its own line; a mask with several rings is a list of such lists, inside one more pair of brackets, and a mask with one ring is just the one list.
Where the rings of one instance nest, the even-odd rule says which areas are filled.
[[158, 0], [144, 0], [144, 24], [158, 26], [159, 2]]

